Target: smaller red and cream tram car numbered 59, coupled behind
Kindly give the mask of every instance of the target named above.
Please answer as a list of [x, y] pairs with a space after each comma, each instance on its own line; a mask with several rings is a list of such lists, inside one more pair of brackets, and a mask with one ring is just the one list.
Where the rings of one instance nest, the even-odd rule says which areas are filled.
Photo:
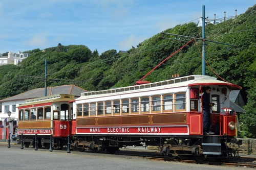
[[[53, 147], [62, 148], [71, 135], [71, 116], [74, 95], [55, 94], [42, 98], [27, 100], [18, 106], [18, 135], [23, 134], [25, 147], [35, 144], [37, 134], [38, 148], [50, 147], [50, 136]], [[19, 137], [21, 138], [21, 137]]]

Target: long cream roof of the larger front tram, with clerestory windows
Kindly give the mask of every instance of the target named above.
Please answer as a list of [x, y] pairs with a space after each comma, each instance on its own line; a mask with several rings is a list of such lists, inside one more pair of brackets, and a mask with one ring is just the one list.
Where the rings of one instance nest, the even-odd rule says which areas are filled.
[[81, 93], [82, 95], [76, 100], [83, 100], [89, 99], [92, 97], [100, 97], [100, 96], [108, 96], [111, 94], [123, 94], [129, 92], [140, 92], [140, 91], [147, 91], [147, 90], [157, 90], [163, 88], [175, 88], [175, 87], [184, 87], [184, 86], [196, 86], [196, 85], [220, 85], [220, 86], [229, 86], [232, 90], [241, 89], [240, 86], [234, 85], [228, 82], [217, 80], [214, 77], [204, 76], [204, 75], [192, 75], [192, 76], [185, 76], [185, 77], [177, 77], [170, 80], [155, 82], [155, 83], [148, 83], [142, 85], [135, 85], [135, 86], [127, 86], [127, 87], [120, 87], [108, 90], [100, 90], [100, 91], [89, 91]]

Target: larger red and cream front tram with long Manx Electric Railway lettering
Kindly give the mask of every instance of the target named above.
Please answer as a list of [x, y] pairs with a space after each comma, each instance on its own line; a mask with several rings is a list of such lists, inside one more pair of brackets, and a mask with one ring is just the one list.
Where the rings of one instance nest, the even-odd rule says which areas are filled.
[[[202, 99], [211, 87], [212, 131], [203, 135]], [[116, 152], [124, 145], [156, 145], [174, 158], [194, 155], [230, 155], [226, 143], [236, 136], [236, 113], [229, 108], [229, 93], [240, 86], [209, 76], [171, 80], [109, 90], [84, 92], [73, 101], [74, 146], [80, 151]]]

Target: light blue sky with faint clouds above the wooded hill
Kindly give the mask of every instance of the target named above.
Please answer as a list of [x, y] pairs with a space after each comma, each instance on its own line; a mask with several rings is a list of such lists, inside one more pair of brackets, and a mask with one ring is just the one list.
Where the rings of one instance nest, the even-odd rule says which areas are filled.
[[91, 51], [132, 46], [202, 16], [244, 13], [255, 0], [1, 0], [0, 53], [62, 45]]

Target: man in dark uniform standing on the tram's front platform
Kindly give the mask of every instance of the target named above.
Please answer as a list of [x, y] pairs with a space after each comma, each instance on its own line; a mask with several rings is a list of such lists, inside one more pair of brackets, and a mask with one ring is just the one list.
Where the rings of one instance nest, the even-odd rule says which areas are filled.
[[214, 132], [211, 132], [211, 117], [210, 117], [210, 91], [211, 88], [207, 86], [203, 94], [203, 133], [206, 135], [213, 135]]

